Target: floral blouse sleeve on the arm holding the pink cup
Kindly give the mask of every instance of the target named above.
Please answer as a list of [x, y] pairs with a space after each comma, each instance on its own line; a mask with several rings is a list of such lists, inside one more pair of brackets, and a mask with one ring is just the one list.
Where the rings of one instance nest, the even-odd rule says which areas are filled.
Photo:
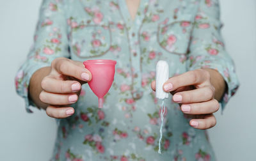
[[35, 107], [28, 97], [29, 81], [33, 73], [44, 66], [51, 66], [51, 61], [56, 57], [70, 57], [63, 5], [63, 1], [42, 2], [33, 47], [15, 77], [16, 91], [25, 99], [28, 112], [32, 112], [30, 105]]

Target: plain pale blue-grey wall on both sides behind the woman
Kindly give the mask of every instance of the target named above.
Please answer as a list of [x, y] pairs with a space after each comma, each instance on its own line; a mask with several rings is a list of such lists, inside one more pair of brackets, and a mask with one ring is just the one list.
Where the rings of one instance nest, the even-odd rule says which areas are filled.
[[[33, 42], [41, 0], [0, 0], [0, 160], [49, 160], [56, 123], [44, 111], [26, 113], [14, 77]], [[227, 51], [241, 86], [209, 130], [218, 160], [256, 160], [256, 1], [220, 0]]]

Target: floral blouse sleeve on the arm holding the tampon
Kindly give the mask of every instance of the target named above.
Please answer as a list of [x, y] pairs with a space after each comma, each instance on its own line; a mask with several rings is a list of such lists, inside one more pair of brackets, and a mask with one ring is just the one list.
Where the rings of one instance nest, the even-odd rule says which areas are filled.
[[220, 7], [218, 0], [200, 1], [195, 17], [195, 26], [189, 46], [188, 70], [212, 68], [218, 70], [227, 83], [221, 109], [223, 111], [229, 98], [239, 86], [234, 62], [227, 54], [220, 28]]

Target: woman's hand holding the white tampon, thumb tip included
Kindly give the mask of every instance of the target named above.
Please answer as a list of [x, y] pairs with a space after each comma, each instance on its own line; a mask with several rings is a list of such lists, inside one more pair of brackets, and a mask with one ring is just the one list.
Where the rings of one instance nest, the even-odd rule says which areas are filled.
[[[212, 78], [214, 75], [214, 79]], [[218, 82], [216, 82], [218, 81]], [[219, 89], [216, 95], [215, 86]], [[156, 89], [156, 82], [151, 87]], [[225, 91], [225, 81], [216, 70], [198, 69], [168, 79], [164, 91], [173, 94], [173, 102], [180, 104], [180, 110], [189, 114], [191, 127], [207, 129], [216, 125], [212, 113], [218, 111], [220, 99]]]

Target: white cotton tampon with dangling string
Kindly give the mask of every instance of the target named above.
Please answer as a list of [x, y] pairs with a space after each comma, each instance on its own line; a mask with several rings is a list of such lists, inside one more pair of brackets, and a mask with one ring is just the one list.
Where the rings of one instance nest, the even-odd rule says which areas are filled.
[[162, 100], [161, 104], [161, 127], [158, 142], [158, 153], [161, 154], [161, 140], [163, 137], [163, 121], [164, 121], [164, 98], [168, 98], [168, 93], [163, 90], [163, 84], [169, 79], [169, 66], [166, 61], [158, 61], [156, 65], [156, 98]]

